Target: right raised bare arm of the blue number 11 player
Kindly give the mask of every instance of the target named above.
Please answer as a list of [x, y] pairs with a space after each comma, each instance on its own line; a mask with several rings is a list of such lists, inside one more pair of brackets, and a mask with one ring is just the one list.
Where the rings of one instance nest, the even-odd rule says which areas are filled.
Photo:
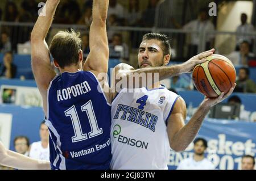
[[84, 71], [92, 71], [96, 77], [108, 72], [109, 47], [106, 33], [106, 18], [109, 0], [94, 0], [92, 25], [90, 26], [90, 53], [84, 64]]

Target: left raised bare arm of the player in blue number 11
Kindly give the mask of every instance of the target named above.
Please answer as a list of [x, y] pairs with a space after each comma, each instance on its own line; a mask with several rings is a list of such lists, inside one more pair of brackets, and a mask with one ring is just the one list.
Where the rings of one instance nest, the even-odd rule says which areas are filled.
[[49, 82], [55, 77], [56, 73], [51, 69], [49, 49], [46, 43], [46, 35], [51, 27], [53, 15], [59, 0], [48, 0], [44, 6], [45, 14], [41, 14], [31, 32], [31, 59], [32, 70], [40, 94], [43, 97], [44, 111], [46, 108], [46, 95]]

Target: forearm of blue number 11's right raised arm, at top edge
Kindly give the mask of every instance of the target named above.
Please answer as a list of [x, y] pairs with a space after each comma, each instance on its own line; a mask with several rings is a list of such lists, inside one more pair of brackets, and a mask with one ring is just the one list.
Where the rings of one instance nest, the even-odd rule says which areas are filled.
[[106, 23], [106, 19], [108, 16], [108, 6], [109, 6], [109, 0], [93, 1], [93, 12], [92, 12], [93, 23], [97, 23], [97, 22], [100, 22], [102, 24]]

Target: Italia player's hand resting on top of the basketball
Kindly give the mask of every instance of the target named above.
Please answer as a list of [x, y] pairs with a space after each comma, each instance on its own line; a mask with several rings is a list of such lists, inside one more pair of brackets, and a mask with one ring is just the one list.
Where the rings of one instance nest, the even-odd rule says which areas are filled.
[[202, 52], [190, 58], [187, 62], [182, 64], [181, 74], [190, 73], [197, 64], [202, 64], [206, 61], [206, 58], [211, 56], [214, 53], [215, 49], [210, 49], [206, 52]]

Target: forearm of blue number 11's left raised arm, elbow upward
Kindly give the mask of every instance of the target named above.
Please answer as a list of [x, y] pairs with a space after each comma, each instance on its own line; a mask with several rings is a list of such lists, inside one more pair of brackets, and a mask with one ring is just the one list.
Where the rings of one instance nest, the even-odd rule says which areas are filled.
[[35, 26], [31, 32], [31, 43], [35, 41], [44, 41], [46, 35], [51, 27], [53, 16], [55, 14], [57, 5], [60, 0], [48, 0], [44, 6], [45, 14], [38, 16], [38, 20], [35, 23]]

